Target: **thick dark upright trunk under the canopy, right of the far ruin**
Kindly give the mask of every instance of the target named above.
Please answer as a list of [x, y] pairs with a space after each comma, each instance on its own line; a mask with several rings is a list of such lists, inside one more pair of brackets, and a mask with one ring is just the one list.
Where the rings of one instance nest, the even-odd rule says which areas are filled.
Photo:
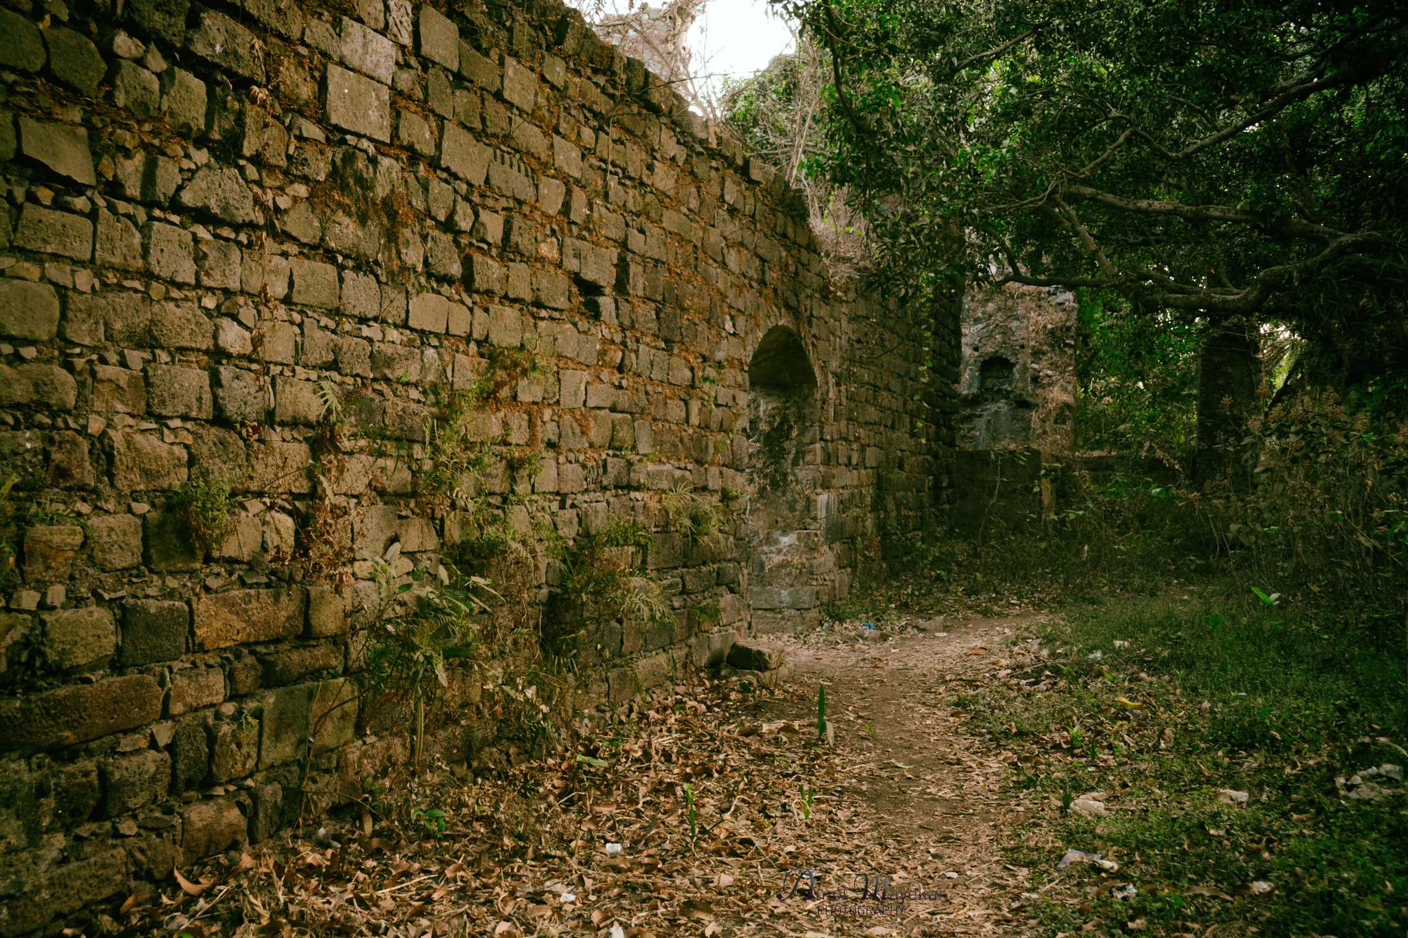
[[1262, 383], [1257, 323], [1243, 318], [1208, 322], [1198, 350], [1198, 439], [1193, 478], [1226, 478], [1238, 491], [1252, 485], [1255, 449], [1243, 446], [1247, 418]]

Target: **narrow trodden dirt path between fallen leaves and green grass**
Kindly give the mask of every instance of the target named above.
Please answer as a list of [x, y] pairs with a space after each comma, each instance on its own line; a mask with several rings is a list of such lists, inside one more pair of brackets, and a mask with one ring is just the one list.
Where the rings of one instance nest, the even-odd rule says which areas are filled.
[[798, 914], [808, 928], [801, 934], [1024, 931], [1017, 911], [1026, 870], [1005, 865], [998, 849], [1000, 823], [1015, 810], [1002, 797], [1000, 751], [966, 731], [956, 699], [990, 683], [1010, 665], [1010, 640], [1043, 619], [918, 620], [926, 631], [894, 640], [788, 643], [797, 692], [762, 706], [762, 716], [815, 719], [814, 709], [804, 713], [798, 705], [825, 686], [835, 752], [846, 766], [838, 817], [850, 810], [869, 821], [867, 830], [848, 831], [856, 847], [848, 855], [829, 855], [835, 847], [812, 851], [818, 889], [849, 887], [855, 896], [862, 885], [855, 876], [870, 873], [888, 878], [891, 892], [945, 893], [939, 901], [907, 901], [898, 914], [838, 915], [817, 903]]

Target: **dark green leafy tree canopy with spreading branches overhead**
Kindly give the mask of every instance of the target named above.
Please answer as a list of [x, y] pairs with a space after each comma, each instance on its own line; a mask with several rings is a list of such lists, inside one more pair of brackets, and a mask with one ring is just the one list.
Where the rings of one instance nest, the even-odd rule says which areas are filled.
[[831, 52], [811, 167], [863, 205], [884, 283], [1280, 319], [1347, 383], [1408, 364], [1401, 4], [781, 6]]

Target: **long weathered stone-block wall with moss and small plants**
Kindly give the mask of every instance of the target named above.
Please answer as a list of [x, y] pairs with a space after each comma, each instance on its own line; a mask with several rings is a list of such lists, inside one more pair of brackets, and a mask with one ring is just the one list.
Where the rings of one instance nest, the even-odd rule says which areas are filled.
[[829, 283], [800, 197], [576, 14], [7, 3], [0, 935], [403, 762], [365, 626], [484, 523], [545, 630], [545, 544], [652, 532], [670, 624], [573, 648], [612, 702], [935, 525], [953, 311]]

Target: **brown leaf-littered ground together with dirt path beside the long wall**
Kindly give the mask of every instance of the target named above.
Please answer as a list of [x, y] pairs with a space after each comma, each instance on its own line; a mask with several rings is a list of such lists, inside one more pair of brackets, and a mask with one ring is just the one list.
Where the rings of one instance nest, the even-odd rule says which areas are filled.
[[[1010, 679], [1038, 619], [788, 638], [779, 688], [656, 688], [572, 750], [469, 783], [429, 771], [122, 917], [194, 938], [1015, 938], [1032, 931], [1026, 870], [1001, 859], [1017, 802], [959, 698]], [[788, 870], [810, 872], [794, 889]]]

